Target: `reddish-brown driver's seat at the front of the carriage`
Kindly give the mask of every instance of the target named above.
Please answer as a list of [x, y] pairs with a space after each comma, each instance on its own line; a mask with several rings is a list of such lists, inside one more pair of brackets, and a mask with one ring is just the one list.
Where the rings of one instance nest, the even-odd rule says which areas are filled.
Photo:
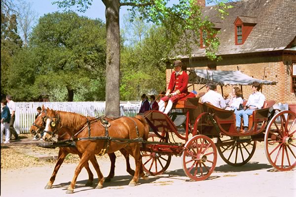
[[174, 103], [172, 109], [182, 109], [182, 108], [191, 108], [196, 109], [198, 107], [199, 98], [204, 96], [204, 92], [200, 92], [197, 95], [189, 93], [186, 97], [178, 100], [177, 103]]

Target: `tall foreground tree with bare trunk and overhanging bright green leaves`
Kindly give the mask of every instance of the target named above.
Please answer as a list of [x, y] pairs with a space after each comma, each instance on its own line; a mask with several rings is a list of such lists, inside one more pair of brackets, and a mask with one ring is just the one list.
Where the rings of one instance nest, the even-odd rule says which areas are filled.
[[[138, 10], [139, 13], [156, 25], [163, 25], [167, 28], [167, 35], [171, 33], [182, 35], [186, 30], [192, 30], [199, 35], [200, 29], [207, 29], [211, 32], [211, 26], [206, 17], [202, 17], [201, 9], [194, 0], [180, 0], [179, 4], [168, 7], [168, 0], [102, 0], [106, 6], [106, 27], [107, 27], [107, 58], [106, 58], [106, 115], [119, 117], [119, 73], [120, 73], [120, 36], [119, 36], [119, 8], [120, 6], [131, 6], [132, 15]], [[219, 0], [215, 0], [219, 1]], [[218, 11], [225, 14], [225, 4], [218, 4]], [[78, 11], [85, 11], [92, 0], [60, 0], [59, 7], [70, 8], [77, 5]], [[195, 39], [197, 40], [197, 39]], [[176, 40], [172, 40], [175, 42]], [[217, 42], [215, 39], [208, 40], [207, 51], [213, 55], [211, 45]], [[185, 43], [187, 49], [189, 44]], [[214, 48], [215, 50], [215, 48]], [[184, 51], [183, 51], [184, 52]], [[186, 50], [189, 54], [189, 50]]]

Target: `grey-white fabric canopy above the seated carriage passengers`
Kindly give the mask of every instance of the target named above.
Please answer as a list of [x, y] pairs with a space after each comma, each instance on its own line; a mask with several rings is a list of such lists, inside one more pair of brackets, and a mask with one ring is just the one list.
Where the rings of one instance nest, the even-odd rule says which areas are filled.
[[206, 84], [208, 80], [211, 80], [221, 86], [226, 85], [250, 85], [254, 81], [257, 81], [264, 85], [275, 85], [276, 82], [268, 80], [255, 79], [249, 75], [242, 73], [241, 71], [226, 71], [226, 70], [207, 70], [207, 69], [195, 69], [197, 76], [197, 82], [200, 84]]

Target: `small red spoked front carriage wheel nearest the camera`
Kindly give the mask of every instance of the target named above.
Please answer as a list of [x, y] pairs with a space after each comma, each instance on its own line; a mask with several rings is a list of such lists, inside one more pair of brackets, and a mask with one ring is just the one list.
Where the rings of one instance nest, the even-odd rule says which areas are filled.
[[182, 165], [191, 180], [207, 179], [214, 171], [216, 163], [216, 146], [208, 136], [195, 135], [187, 141], [182, 154]]

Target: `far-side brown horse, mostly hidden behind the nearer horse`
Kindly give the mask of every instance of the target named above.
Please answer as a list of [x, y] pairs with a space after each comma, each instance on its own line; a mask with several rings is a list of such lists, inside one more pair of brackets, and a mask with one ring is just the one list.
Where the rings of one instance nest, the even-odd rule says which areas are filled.
[[[37, 117], [37, 119], [35, 120], [35, 122], [33, 123], [33, 125], [30, 128], [30, 132], [31, 134], [40, 134], [40, 132], [43, 132], [44, 128], [43, 127], [43, 120], [46, 117], [46, 109], [44, 108], [44, 106], [42, 106], [42, 113]], [[61, 135], [58, 140], [69, 140], [71, 139], [71, 136], [69, 135], [69, 133], [67, 132], [67, 130], [69, 130], [68, 128], [62, 128], [61, 133], [64, 133], [64, 135]], [[130, 175], [134, 175], [135, 171], [133, 169], [131, 169], [130, 163], [129, 163], [129, 154], [124, 150], [121, 149], [119, 150], [122, 155], [124, 156], [125, 160], [126, 160], [126, 171], [130, 174]], [[81, 159], [82, 153], [80, 153], [77, 148], [75, 146], [70, 146], [70, 147], [59, 147], [59, 154], [58, 154], [58, 160], [57, 163], [54, 167], [53, 173], [47, 183], [47, 185], [45, 186], [44, 189], [51, 189], [52, 185], [55, 181], [56, 175], [58, 173], [59, 168], [61, 167], [61, 165], [63, 164], [66, 156], [68, 154], [75, 154], [78, 155], [79, 158]], [[114, 169], [115, 169], [115, 160], [116, 160], [116, 156], [114, 153], [110, 153], [108, 154], [110, 161], [111, 161], [111, 168], [110, 168], [110, 173], [109, 175], [106, 177], [105, 181], [106, 182], [110, 182], [111, 178], [114, 177]], [[93, 180], [94, 180], [94, 176], [93, 173], [91, 172], [88, 162], [85, 164], [85, 169], [88, 173], [88, 181], [85, 184], [85, 186], [91, 186], [93, 184]]]

